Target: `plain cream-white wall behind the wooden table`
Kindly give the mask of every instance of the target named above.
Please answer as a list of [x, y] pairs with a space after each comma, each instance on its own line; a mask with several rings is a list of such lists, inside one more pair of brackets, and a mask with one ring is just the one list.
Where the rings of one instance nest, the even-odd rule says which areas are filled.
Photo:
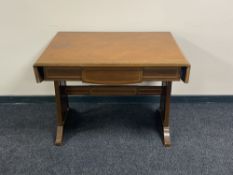
[[233, 95], [232, 0], [0, 0], [0, 95], [53, 94], [32, 64], [57, 31], [171, 31], [192, 64], [173, 94]]

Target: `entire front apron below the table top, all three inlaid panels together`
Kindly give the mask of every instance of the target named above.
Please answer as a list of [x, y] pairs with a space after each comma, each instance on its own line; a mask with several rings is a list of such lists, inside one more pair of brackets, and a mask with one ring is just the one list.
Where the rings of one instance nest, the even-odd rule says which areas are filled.
[[95, 84], [131, 84], [180, 80], [181, 68], [75, 68], [45, 67], [46, 80], [81, 80]]

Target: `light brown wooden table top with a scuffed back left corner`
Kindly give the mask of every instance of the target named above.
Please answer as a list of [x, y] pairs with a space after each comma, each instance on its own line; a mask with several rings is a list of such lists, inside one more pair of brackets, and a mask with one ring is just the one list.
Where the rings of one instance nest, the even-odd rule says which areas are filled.
[[34, 66], [189, 67], [190, 64], [169, 32], [58, 32]]

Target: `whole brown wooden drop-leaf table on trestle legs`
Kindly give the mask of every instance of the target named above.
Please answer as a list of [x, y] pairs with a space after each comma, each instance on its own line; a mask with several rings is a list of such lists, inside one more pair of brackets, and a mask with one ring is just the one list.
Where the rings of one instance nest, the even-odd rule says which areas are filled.
[[[59, 32], [34, 64], [34, 71], [37, 82], [54, 81], [56, 145], [63, 141], [68, 95], [160, 95], [164, 145], [170, 146], [172, 81], [187, 83], [190, 64], [169, 32]], [[93, 85], [68, 86], [66, 81]], [[162, 85], [134, 85], [144, 81]]]

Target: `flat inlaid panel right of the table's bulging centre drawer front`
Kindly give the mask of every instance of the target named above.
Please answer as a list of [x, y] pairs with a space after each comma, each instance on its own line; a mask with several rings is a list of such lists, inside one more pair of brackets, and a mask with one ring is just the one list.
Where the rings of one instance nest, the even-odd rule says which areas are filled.
[[180, 68], [163, 67], [163, 68], [144, 68], [144, 80], [180, 80]]

